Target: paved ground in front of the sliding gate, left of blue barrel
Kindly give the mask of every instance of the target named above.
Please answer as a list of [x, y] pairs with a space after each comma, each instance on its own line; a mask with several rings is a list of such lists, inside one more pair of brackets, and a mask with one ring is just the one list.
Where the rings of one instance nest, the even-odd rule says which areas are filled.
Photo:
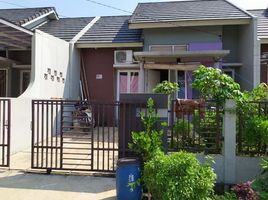
[[77, 175], [72, 172], [51, 175], [33, 173], [30, 170], [30, 151], [27, 150], [13, 155], [11, 160], [11, 170], [0, 170], [0, 199], [116, 199], [115, 178]]

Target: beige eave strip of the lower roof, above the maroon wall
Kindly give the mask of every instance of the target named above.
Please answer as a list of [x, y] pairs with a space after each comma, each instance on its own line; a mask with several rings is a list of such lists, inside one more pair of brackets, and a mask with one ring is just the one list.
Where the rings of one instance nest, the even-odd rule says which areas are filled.
[[142, 42], [120, 42], [120, 43], [85, 43], [77, 42], [75, 44], [77, 48], [120, 48], [120, 47], [143, 47]]

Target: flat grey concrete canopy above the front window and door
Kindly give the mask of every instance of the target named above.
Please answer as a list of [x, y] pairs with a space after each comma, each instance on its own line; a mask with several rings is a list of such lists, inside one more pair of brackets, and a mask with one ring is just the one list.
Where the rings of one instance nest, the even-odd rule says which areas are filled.
[[143, 51], [134, 52], [139, 61], [162, 62], [169, 59], [180, 59], [180, 62], [217, 62], [230, 53], [229, 50], [206, 50], [206, 51], [179, 51], [179, 52], [157, 52]]

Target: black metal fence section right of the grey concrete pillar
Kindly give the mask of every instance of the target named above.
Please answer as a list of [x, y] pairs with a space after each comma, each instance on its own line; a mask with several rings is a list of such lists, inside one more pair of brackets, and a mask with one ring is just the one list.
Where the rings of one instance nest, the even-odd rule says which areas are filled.
[[237, 110], [237, 154], [268, 155], [268, 101], [243, 103]]

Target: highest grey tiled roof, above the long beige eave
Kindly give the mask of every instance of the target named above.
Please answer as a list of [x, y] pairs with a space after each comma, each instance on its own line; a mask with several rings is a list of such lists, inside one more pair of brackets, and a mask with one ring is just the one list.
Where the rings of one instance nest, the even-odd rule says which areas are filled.
[[129, 22], [148, 23], [243, 18], [251, 18], [251, 16], [228, 1], [191, 0], [139, 3]]

